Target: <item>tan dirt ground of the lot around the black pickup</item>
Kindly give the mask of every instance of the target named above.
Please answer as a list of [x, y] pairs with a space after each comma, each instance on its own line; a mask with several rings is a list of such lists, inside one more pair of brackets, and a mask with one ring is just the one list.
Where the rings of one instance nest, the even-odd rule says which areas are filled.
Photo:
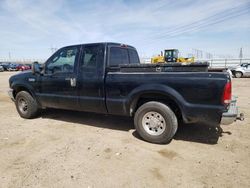
[[0, 72], [0, 187], [250, 187], [250, 78], [234, 79], [244, 122], [181, 126], [168, 145], [130, 119], [47, 110], [19, 117]]

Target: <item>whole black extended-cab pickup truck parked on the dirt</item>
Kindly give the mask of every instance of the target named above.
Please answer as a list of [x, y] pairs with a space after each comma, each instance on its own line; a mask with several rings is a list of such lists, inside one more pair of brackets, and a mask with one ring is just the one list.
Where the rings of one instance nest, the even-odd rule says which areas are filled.
[[230, 76], [194, 66], [143, 65], [119, 43], [73, 45], [12, 76], [9, 95], [23, 118], [44, 108], [130, 116], [144, 140], [167, 143], [181, 121], [217, 127], [236, 119]]

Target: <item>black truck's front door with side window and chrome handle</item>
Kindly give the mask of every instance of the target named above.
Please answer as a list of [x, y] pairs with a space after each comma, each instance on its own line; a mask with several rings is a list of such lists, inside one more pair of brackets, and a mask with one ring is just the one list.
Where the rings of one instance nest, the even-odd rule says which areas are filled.
[[39, 98], [43, 106], [76, 109], [77, 63], [80, 46], [70, 46], [58, 50], [45, 64], [41, 76]]

